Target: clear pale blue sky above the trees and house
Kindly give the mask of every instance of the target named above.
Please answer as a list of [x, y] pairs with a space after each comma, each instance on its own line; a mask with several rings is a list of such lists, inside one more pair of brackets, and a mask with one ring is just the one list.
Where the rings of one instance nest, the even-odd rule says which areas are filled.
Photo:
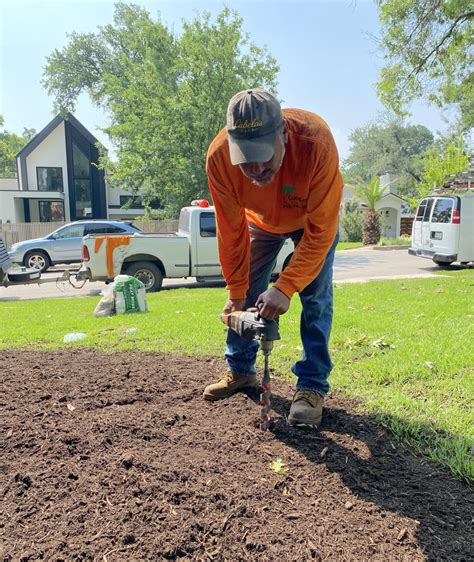
[[[179, 34], [182, 19], [196, 11], [217, 14], [221, 1], [172, 2], [135, 0]], [[230, 0], [227, 6], [244, 18], [244, 30], [259, 46], [266, 45], [281, 66], [279, 96], [284, 107], [300, 107], [321, 115], [330, 125], [341, 157], [349, 151], [351, 130], [375, 119], [383, 110], [374, 83], [383, 55], [377, 8], [369, 0], [307, 2]], [[0, 113], [5, 128], [20, 134], [23, 127], [42, 129], [54, 116], [52, 98], [40, 81], [46, 57], [67, 43], [67, 33], [95, 32], [112, 21], [112, 0], [0, 0]], [[434, 108], [417, 102], [412, 123], [433, 132], [446, 123]], [[107, 124], [103, 111], [84, 95], [75, 116], [105, 146], [99, 130]]]

